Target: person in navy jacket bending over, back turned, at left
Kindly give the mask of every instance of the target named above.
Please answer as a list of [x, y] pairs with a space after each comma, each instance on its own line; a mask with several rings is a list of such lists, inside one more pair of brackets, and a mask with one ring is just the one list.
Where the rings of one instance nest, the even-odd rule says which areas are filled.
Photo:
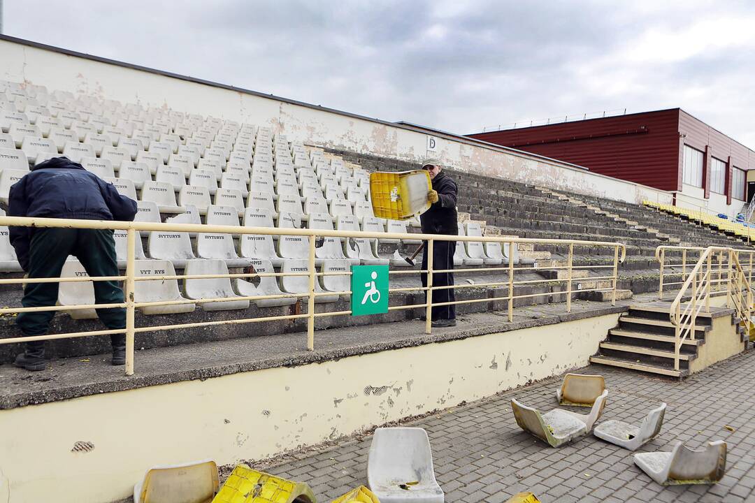
[[[137, 204], [120, 195], [81, 164], [69, 159], [51, 158], [32, 168], [11, 186], [8, 216], [131, 221]], [[59, 278], [69, 255], [82, 262], [88, 275], [118, 276], [116, 244], [109, 229], [11, 227], [11, 244], [18, 262], [29, 278]], [[25, 308], [55, 305], [58, 283], [27, 283], [21, 304]], [[95, 281], [97, 304], [123, 302], [117, 281]], [[18, 314], [16, 324], [24, 336], [47, 333], [54, 311]], [[124, 308], [97, 309], [97, 316], [110, 330], [126, 327]], [[112, 364], [125, 364], [125, 335], [110, 336]], [[26, 370], [45, 369], [45, 342], [26, 343], [26, 351], [16, 357], [15, 365]]]

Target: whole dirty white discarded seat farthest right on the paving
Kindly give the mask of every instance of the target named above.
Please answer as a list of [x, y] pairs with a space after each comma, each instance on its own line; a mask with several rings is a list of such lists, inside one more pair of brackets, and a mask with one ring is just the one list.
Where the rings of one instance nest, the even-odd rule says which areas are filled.
[[708, 442], [696, 450], [680, 442], [671, 452], [639, 452], [634, 455], [634, 464], [664, 486], [712, 484], [726, 471], [726, 442]]

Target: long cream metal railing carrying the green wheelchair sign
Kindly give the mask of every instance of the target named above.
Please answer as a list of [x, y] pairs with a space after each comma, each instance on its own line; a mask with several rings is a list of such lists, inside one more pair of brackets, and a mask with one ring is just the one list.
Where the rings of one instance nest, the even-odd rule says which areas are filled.
[[[95, 309], [95, 308], [125, 308], [126, 323], [125, 329], [122, 330], [91, 330], [82, 332], [71, 333], [57, 333], [48, 334], [43, 336], [24, 336], [13, 338], [0, 338], [0, 344], [11, 344], [17, 342], [30, 342], [40, 340], [51, 339], [66, 339], [84, 336], [103, 336], [109, 334], [125, 334], [126, 336], [126, 367], [125, 373], [130, 376], [134, 373], [134, 336], [137, 333], [153, 332], [158, 330], [176, 330], [193, 327], [211, 327], [223, 324], [248, 324], [259, 323], [263, 321], [275, 321], [275, 320], [296, 320], [307, 319], [307, 348], [311, 351], [314, 349], [314, 332], [316, 318], [326, 316], [339, 316], [352, 314], [350, 310], [343, 311], [328, 311], [328, 312], [316, 312], [315, 300], [317, 296], [332, 296], [332, 295], [350, 295], [351, 290], [343, 290], [339, 292], [317, 292], [316, 281], [317, 278], [325, 275], [347, 275], [350, 276], [351, 272], [319, 272], [316, 269], [316, 241], [318, 238], [367, 238], [373, 239], [398, 239], [406, 240], [421, 239], [427, 241], [428, 260], [427, 268], [423, 270], [417, 269], [391, 269], [390, 275], [418, 275], [420, 273], [427, 273], [427, 287], [396, 287], [389, 288], [388, 293], [399, 293], [408, 291], [425, 291], [427, 293], [427, 299], [421, 304], [411, 305], [390, 305], [389, 311], [397, 311], [403, 309], [412, 308], [424, 308], [426, 321], [425, 321], [425, 333], [431, 332], [432, 321], [432, 308], [438, 305], [460, 305], [460, 304], [472, 304], [476, 302], [506, 302], [508, 311], [508, 321], [513, 321], [513, 305], [516, 299], [533, 299], [538, 296], [565, 296], [566, 311], [572, 309], [572, 293], [574, 290], [573, 284], [575, 278], [573, 277], [573, 271], [579, 269], [599, 269], [606, 268], [611, 272], [609, 275], [581, 278], [580, 281], [595, 281], [595, 288], [587, 288], [579, 290], [582, 292], [588, 292], [591, 290], [611, 290], [612, 291], [612, 304], [615, 305], [616, 301], [616, 284], [618, 281], [618, 265], [624, 261], [626, 255], [626, 248], [624, 244], [605, 242], [605, 241], [580, 241], [580, 240], [558, 240], [558, 239], [528, 239], [528, 238], [510, 238], [499, 236], [452, 236], [452, 235], [424, 235], [424, 234], [401, 234], [401, 233], [389, 233], [389, 232], [345, 232], [345, 231], [331, 231], [321, 229], [310, 228], [271, 228], [271, 227], [247, 227], [247, 226], [231, 226], [231, 225], [202, 225], [202, 224], [177, 224], [177, 223], [156, 223], [156, 222], [106, 222], [99, 220], [75, 220], [75, 219], [48, 219], [48, 218], [26, 218], [26, 217], [9, 217], [0, 216], [0, 225], [8, 226], [23, 226], [23, 227], [37, 227], [37, 228], [90, 228], [90, 229], [113, 229], [113, 230], [125, 230], [127, 233], [127, 256], [125, 273], [118, 276], [109, 277], [74, 277], [74, 278], [2, 278], [0, 284], [23, 284], [23, 283], [45, 283], [45, 282], [75, 282], [75, 281], [123, 281], [124, 299], [125, 302], [111, 303], [111, 304], [82, 304], [82, 305], [54, 305], [49, 307], [29, 307], [29, 308], [0, 308], [0, 315], [14, 314], [20, 312], [29, 311], [76, 311], [83, 309]], [[271, 272], [271, 273], [239, 273], [239, 274], [227, 274], [227, 275], [151, 275], [140, 276], [136, 275], [135, 262], [136, 258], [136, 241], [140, 239], [140, 232], [186, 232], [186, 233], [214, 233], [214, 234], [230, 234], [230, 235], [270, 235], [270, 236], [304, 236], [309, 241], [309, 254], [308, 254], [308, 269], [307, 272]], [[552, 265], [548, 266], [548, 269], [555, 269], [558, 271], [565, 270], [567, 278], [565, 279], [547, 279], [542, 278], [538, 280], [521, 280], [515, 281], [514, 275], [516, 272], [522, 271], [535, 271], [538, 269], [538, 265], [531, 266], [518, 266], [514, 267], [513, 261], [509, 261], [508, 265], [502, 267], [485, 267], [485, 268], [455, 268], [455, 269], [442, 269], [436, 270], [433, 268], [433, 246], [436, 241], [470, 241], [470, 242], [482, 242], [482, 243], [500, 243], [503, 248], [508, 244], [510, 247], [516, 247], [518, 244], [537, 244], [541, 246], [552, 245], [556, 247], [568, 247], [568, 256], [565, 259], [565, 265]], [[610, 264], [605, 265], [573, 265], [574, 250], [575, 247], [608, 247], [613, 250], [612, 261]], [[561, 261], [563, 262], [563, 261]], [[456, 284], [452, 286], [456, 290], [462, 290], [465, 288], [480, 288], [480, 287], [507, 287], [507, 295], [501, 297], [488, 297], [485, 296], [482, 299], [464, 299], [454, 302], [433, 302], [433, 291], [442, 290], [451, 287], [434, 287], [433, 286], [433, 274], [439, 274], [442, 272], [484, 272], [492, 271], [494, 273], [501, 273], [504, 275], [503, 281], [491, 281], [481, 284]], [[165, 301], [152, 301], [141, 302], [135, 298], [135, 283], [137, 281], [168, 281], [168, 280], [181, 280], [186, 281], [190, 279], [211, 279], [211, 278], [230, 278], [230, 279], [246, 279], [246, 278], [262, 278], [262, 277], [275, 277], [279, 278], [285, 275], [291, 276], [307, 276], [309, 278], [309, 290], [307, 293], [282, 293], [276, 295], [257, 295], [257, 296], [233, 296], [233, 297], [217, 297], [207, 299], [182, 299], [182, 300], [165, 300]], [[599, 281], [607, 281], [611, 285], [610, 288], [599, 287]], [[547, 293], [528, 293], [515, 295], [514, 288], [519, 285], [552, 285], [554, 283], [565, 284], [565, 289], [562, 291], [549, 291]], [[205, 302], [231, 302], [238, 300], [262, 300], [262, 299], [281, 299], [281, 298], [293, 298], [297, 300], [307, 300], [307, 312], [301, 314], [287, 314], [277, 316], [264, 316], [264, 317], [240, 317], [238, 319], [223, 319], [217, 321], [201, 321], [191, 322], [185, 324], [165, 324], [159, 326], [136, 326], [135, 311], [137, 308], [145, 308], [149, 306], [165, 306], [165, 305], [180, 305], [180, 304], [202, 304]]]

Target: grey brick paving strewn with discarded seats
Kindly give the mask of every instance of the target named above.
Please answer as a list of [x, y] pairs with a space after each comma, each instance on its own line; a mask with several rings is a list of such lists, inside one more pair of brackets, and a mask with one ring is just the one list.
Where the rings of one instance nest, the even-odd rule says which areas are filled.
[[[755, 502], [753, 367], [755, 351], [681, 382], [597, 365], [579, 371], [606, 377], [609, 400], [598, 422], [639, 423], [652, 406], [668, 404], [661, 434], [638, 452], [669, 451], [680, 440], [693, 448], [726, 440], [726, 475], [713, 486], [660, 486], [636, 468], [631, 452], [592, 435], [553, 449], [520, 430], [510, 398], [544, 411], [553, 409], [559, 377], [407, 425], [425, 428], [430, 435], [436, 477], [448, 502], [506, 501], [523, 490], [535, 492], [544, 503]], [[319, 501], [330, 501], [366, 484], [370, 441], [371, 437], [345, 439], [267, 471], [307, 482]]]

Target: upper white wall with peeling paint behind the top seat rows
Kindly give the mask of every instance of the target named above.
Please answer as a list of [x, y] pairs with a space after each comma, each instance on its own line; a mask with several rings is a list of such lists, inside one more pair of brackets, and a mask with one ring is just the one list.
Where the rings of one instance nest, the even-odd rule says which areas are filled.
[[413, 162], [430, 155], [448, 167], [467, 172], [631, 203], [643, 199], [671, 203], [669, 192], [589, 173], [524, 152], [485, 146], [440, 133], [431, 133], [437, 147], [430, 152], [427, 149], [428, 134], [422, 130], [60, 54], [14, 41], [0, 40], [0, 60], [0, 78], [42, 84], [50, 90], [67, 90], [123, 103], [167, 106], [182, 112], [250, 122], [272, 127], [275, 131], [282, 130], [289, 140], [331, 149]]

